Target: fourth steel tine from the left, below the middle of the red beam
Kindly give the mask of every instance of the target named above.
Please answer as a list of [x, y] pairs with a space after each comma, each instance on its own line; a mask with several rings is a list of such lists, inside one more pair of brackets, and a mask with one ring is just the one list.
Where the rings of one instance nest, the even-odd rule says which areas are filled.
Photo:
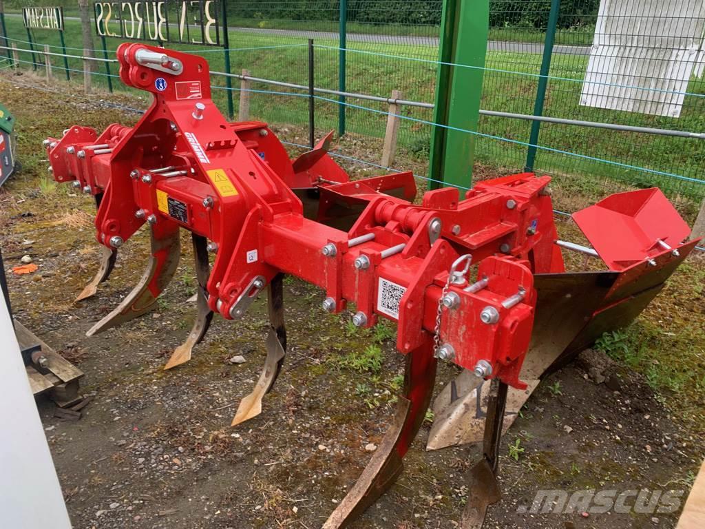
[[286, 356], [286, 327], [284, 327], [283, 274], [269, 284], [269, 334], [266, 339], [266, 360], [252, 393], [240, 401], [232, 426], [239, 425], [262, 413], [262, 398], [274, 386]]

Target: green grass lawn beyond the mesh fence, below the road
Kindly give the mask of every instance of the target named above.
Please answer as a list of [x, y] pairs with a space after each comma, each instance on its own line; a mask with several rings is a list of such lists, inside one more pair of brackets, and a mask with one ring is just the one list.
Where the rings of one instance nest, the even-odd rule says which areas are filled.
[[[17, 17], [6, 19], [8, 35], [13, 39], [26, 40], [22, 21]], [[312, 29], [312, 28], [309, 28]], [[35, 31], [38, 44], [59, 45], [56, 32]], [[66, 45], [70, 54], [79, 54], [82, 47], [80, 23], [66, 20]], [[99, 39], [94, 39], [96, 47]], [[231, 30], [231, 71], [239, 73], [243, 68], [250, 75], [288, 83], [307, 84], [307, 47], [302, 37], [272, 37]], [[118, 39], [106, 39], [109, 50], [120, 44]], [[338, 88], [338, 49], [336, 39], [317, 39], [315, 56], [316, 85], [329, 89]], [[18, 43], [19, 47], [27, 44]], [[347, 53], [347, 90], [370, 95], [391, 95], [400, 90], [405, 99], [432, 102], [436, 81], [435, 47], [402, 43], [380, 44], [351, 42]], [[218, 48], [195, 49], [195, 46], [174, 46], [175, 49], [195, 51], [209, 60], [212, 71], [223, 71], [223, 53]], [[60, 51], [54, 49], [54, 51]], [[102, 55], [102, 53], [100, 54]], [[113, 56], [112, 51], [109, 56]], [[405, 58], [405, 59], [404, 59]], [[31, 67], [31, 54], [22, 53], [24, 68]], [[39, 57], [41, 61], [41, 57]], [[627, 113], [605, 109], [581, 107], [578, 104], [582, 90], [582, 78], [587, 68], [587, 56], [556, 54], [551, 64], [551, 75], [574, 80], [550, 80], [546, 94], [544, 114], [548, 116], [575, 118], [585, 121], [624, 123], [657, 128], [675, 128], [701, 132], [705, 130], [702, 102], [687, 96], [680, 118], [664, 118], [644, 114]], [[61, 63], [53, 59], [55, 68]], [[82, 61], [71, 59], [69, 67], [72, 78], [80, 82]], [[484, 79], [482, 108], [532, 114], [537, 92], [537, 74], [540, 70], [539, 54], [520, 54], [491, 51], [488, 53]], [[94, 84], [106, 86], [106, 71], [103, 64], [94, 75]], [[116, 75], [116, 65], [110, 65], [111, 74]], [[59, 72], [56, 72], [58, 75]], [[527, 75], [529, 74], [529, 75]], [[225, 79], [214, 76], [214, 99], [226, 109]], [[117, 78], [113, 78], [116, 90], [125, 90]], [[79, 85], [77, 84], [77, 87]], [[238, 105], [239, 81], [233, 80], [235, 109]], [[254, 84], [250, 108], [254, 117], [272, 123], [307, 123], [307, 99], [301, 92], [286, 95], [291, 91], [272, 85]], [[705, 86], [700, 80], [690, 83], [689, 91], [705, 95]], [[268, 92], [277, 92], [276, 94]], [[333, 97], [326, 97], [333, 99]], [[276, 104], [273, 104], [276, 102]], [[349, 104], [363, 107], [348, 107], [346, 111], [348, 130], [361, 135], [381, 138], [384, 135], [386, 105], [348, 99]], [[372, 109], [373, 111], [369, 111]], [[400, 145], [419, 157], [427, 156], [431, 126], [423, 121], [432, 120], [430, 109], [403, 107], [402, 125], [399, 132]], [[317, 101], [317, 133], [337, 128], [338, 104], [319, 99]], [[530, 122], [508, 118], [483, 117], [479, 131], [486, 135], [527, 142]], [[676, 174], [687, 178], [701, 179], [701, 168], [705, 165], [705, 142], [692, 138], [670, 138], [637, 133], [606, 132], [605, 130], [544, 123], [541, 126], [539, 145], [553, 150], [567, 151], [587, 157], [606, 159], [621, 164], [644, 167], [654, 171]], [[484, 162], [497, 166], [513, 166], [522, 169], [527, 147], [493, 138], [480, 138], [477, 155]], [[635, 169], [603, 164], [558, 152], [539, 150], [535, 168], [539, 171], [563, 175], [572, 174], [584, 178], [589, 186], [606, 185], [618, 181], [634, 186], [661, 186], [670, 196], [683, 195], [692, 200], [705, 196], [705, 185], [684, 181], [670, 176], [658, 176]]]

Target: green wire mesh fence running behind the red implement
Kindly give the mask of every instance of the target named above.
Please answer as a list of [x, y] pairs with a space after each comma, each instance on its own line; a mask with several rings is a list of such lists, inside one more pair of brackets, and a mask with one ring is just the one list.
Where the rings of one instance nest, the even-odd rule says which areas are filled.
[[[434, 101], [441, 0], [226, 5], [233, 73], [247, 71], [254, 78], [306, 86], [307, 40], [314, 39], [316, 87], [379, 97], [397, 91], [400, 99]], [[64, 35], [67, 53], [80, 56], [80, 21], [71, 18], [75, 14], [67, 11]], [[704, 0], [491, 0], [489, 22], [482, 109], [705, 132]], [[31, 30], [28, 38], [18, 16], [8, 14], [6, 24], [11, 42], [37, 50], [34, 55], [20, 52], [25, 68], [36, 63], [41, 72], [44, 44], [61, 51], [57, 32]], [[108, 56], [114, 57], [121, 39], [108, 37], [104, 42]], [[212, 71], [225, 70], [222, 49], [167, 46], [201, 54]], [[102, 42], [95, 36], [94, 48], [102, 57]], [[55, 75], [63, 75], [62, 66], [57, 57]], [[84, 61], [69, 58], [67, 66], [71, 78], [80, 81]], [[125, 90], [116, 80], [116, 69], [114, 63], [97, 63], [94, 85], [107, 87], [111, 78], [114, 89]], [[213, 84], [214, 99], [222, 109], [228, 92], [233, 93], [237, 115], [240, 81], [233, 80], [233, 90], [228, 90], [225, 78], [214, 75]], [[248, 83], [245, 90], [253, 118], [283, 127], [306, 126], [305, 91], [261, 82]], [[387, 111], [386, 102], [319, 94], [317, 136], [344, 128], [348, 135], [381, 140]], [[400, 149], [420, 160], [419, 171], [424, 172], [433, 109], [402, 106], [400, 113]], [[571, 194], [604, 195], [654, 185], [682, 202], [682, 209], [694, 209], [705, 197], [705, 141], [699, 138], [486, 115], [478, 132], [476, 178], [529, 164], [552, 174], [559, 187], [570, 191], [559, 205], [568, 210]]]

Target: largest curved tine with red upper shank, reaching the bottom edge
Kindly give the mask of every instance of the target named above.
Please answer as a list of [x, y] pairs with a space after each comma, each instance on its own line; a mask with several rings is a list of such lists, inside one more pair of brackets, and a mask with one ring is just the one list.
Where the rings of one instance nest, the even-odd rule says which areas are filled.
[[406, 356], [405, 394], [400, 396], [392, 425], [348, 495], [323, 525], [346, 527], [393, 485], [402, 472], [403, 457], [424, 422], [436, 379], [433, 341]]

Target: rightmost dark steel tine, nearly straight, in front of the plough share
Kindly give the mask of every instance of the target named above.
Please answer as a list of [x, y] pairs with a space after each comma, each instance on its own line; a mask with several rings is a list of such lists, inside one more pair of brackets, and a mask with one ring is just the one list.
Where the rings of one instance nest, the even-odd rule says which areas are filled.
[[487, 508], [502, 497], [497, 482], [499, 469], [499, 441], [502, 437], [504, 408], [507, 402], [507, 384], [492, 379], [482, 452], [482, 460], [470, 469], [467, 504], [460, 518], [461, 529], [480, 529]]

